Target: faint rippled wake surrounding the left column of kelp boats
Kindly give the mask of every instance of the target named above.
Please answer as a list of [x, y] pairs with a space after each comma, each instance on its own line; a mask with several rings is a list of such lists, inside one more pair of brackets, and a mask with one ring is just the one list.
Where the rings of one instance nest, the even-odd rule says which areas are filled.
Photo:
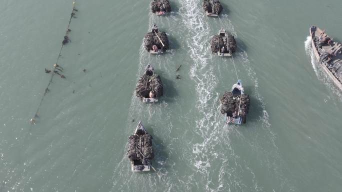
[[[177, 21], [178, 18], [176, 18], [174, 14], [172, 14], [171, 16], [174, 17], [172, 19]], [[169, 22], [165, 22], [163, 19], [165, 18], [157, 17], [154, 14], [149, 13], [147, 31], [149, 31], [155, 23], [158, 25], [161, 31], [166, 31], [166, 34], [168, 36], [170, 35], [170, 33], [173, 34], [175, 32], [179, 32], [174, 31], [171, 26], [172, 24], [170, 24]], [[166, 20], [169, 21], [168, 18]], [[144, 34], [141, 34], [142, 39], [143, 36]], [[111, 178], [113, 191], [170, 191], [171, 189], [174, 190], [178, 187], [182, 187], [179, 184], [175, 184], [174, 180], [172, 180], [172, 178], [177, 178], [175, 163], [170, 162], [167, 155], [163, 154], [162, 151], [162, 148], [168, 148], [169, 150], [171, 150], [172, 145], [177, 142], [176, 139], [170, 137], [170, 132], [173, 129], [171, 118], [174, 117], [174, 115], [172, 116], [172, 110], [169, 107], [169, 104], [165, 101], [165, 97], [167, 97], [168, 87], [164, 84], [163, 81], [164, 73], [166, 76], [170, 76], [171, 73], [174, 73], [174, 56], [175, 50], [172, 49], [171, 41], [170, 49], [168, 49], [165, 53], [160, 55], [149, 55], [149, 53], [144, 48], [144, 43], [142, 40], [139, 48], [138, 71], [136, 73], [136, 81], [143, 74], [145, 66], [150, 63], [156, 73], [161, 76], [164, 94], [157, 103], [146, 104], [142, 103], [142, 101], [135, 96], [135, 90], [133, 91], [131, 96], [131, 103], [128, 110], [127, 127], [124, 135], [126, 137], [131, 135], [134, 128], [136, 127], [137, 122], [139, 120], [142, 121], [147, 131], [151, 133], [154, 138], [152, 142], [154, 152], [154, 159], [152, 160], [152, 164], [157, 170], [160, 177], [153, 170], [143, 174], [131, 172], [130, 162], [129, 159], [126, 157], [126, 149], [128, 145], [127, 143], [125, 143], [124, 146], [122, 146], [122, 159], [117, 164], [115, 164], [113, 168], [113, 175]], [[160, 129], [162, 129], [162, 131], [160, 131]], [[167, 146], [163, 146], [162, 143], [157, 143], [155, 138], [159, 138], [159, 140], [171, 141], [170, 144], [168, 144]], [[167, 166], [165, 166], [166, 161], [168, 163]], [[160, 188], [162, 188], [162, 190]], [[179, 189], [179, 191], [180, 190], [181, 189]]]

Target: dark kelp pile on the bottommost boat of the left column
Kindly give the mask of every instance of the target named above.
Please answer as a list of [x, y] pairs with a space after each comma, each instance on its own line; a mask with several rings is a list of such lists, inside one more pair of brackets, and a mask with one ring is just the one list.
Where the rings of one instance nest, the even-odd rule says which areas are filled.
[[130, 160], [144, 159], [142, 161], [143, 164], [146, 163], [146, 160], [151, 160], [154, 157], [152, 151], [152, 136], [149, 134], [133, 134], [129, 136], [127, 156]]

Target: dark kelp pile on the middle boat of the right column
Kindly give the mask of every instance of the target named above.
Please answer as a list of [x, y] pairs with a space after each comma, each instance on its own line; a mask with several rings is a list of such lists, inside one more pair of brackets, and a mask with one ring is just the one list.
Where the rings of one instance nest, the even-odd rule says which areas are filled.
[[223, 53], [233, 53], [236, 50], [236, 41], [233, 35], [226, 34], [226, 36], [222, 35], [214, 35], [211, 38], [211, 52], [217, 53], [221, 52], [222, 47], [224, 47]]

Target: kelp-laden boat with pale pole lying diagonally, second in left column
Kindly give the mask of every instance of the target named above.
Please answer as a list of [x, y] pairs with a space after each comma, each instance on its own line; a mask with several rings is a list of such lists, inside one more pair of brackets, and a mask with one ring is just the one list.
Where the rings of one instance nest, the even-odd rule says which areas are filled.
[[166, 32], [160, 32], [154, 24], [151, 32], [148, 32], [143, 39], [145, 49], [152, 54], [163, 53], [168, 49], [168, 38]]

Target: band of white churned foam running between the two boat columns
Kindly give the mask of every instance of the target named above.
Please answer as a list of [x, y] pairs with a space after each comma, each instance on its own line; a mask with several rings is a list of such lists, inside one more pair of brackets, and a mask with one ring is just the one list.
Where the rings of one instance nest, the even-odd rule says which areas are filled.
[[[193, 60], [190, 78], [196, 83], [196, 109], [199, 115], [195, 120], [195, 132], [202, 138], [202, 142], [193, 144], [194, 157], [190, 161], [195, 167], [194, 171], [202, 175], [201, 181], [206, 191], [243, 190], [249, 186], [244, 184], [245, 181], [241, 178], [242, 172], [247, 171], [251, 175], [254, 173], [247, 164], [239, 161], [240, 157], [231, 147], [229, 136], [222, 134], [233, 129], [232, 126], [227, 127], [223, 123], [219, 112], [220, 93], [214, 90], [219, 83], [217, 72], [221, 66], [213, 63], [211, 51], [208, 50], [208, 38], [212, 35], [210, 27], [206, 23], [200, 1], [181, 0], [180, 2], [184, 9], [183, 22], [189, 30], [187, 46]], [[233, 26], [229, 23], [225, 23], [228, 27], [226, 29], [235, 34]], [[216, 146], [221, 147], [217, 150]], [[215, 171], [217, 169], [218, 172]], [[218, 178], [212, 178], [217, 174]], [[255, 179], [251, 182], [255, 186], [254, 191], [262, 190]]]

